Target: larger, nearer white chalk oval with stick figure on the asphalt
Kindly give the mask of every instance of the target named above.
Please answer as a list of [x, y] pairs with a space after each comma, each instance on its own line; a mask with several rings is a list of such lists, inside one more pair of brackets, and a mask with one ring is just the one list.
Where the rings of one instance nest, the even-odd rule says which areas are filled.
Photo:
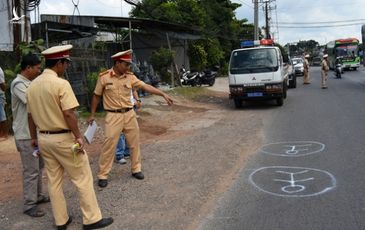
[[336, 187], [335, 177], [327, 171], [290, 166], [256, 169], [249, 181], [258, 190], [281, 197], [318, 196]]

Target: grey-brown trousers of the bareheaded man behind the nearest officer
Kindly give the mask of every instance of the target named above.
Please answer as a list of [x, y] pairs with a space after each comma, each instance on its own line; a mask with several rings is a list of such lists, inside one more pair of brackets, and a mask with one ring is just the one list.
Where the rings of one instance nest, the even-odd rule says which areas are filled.
[[34, 149], [31, 140], [15, 140], [15, 145], [20, 153], [23, 165], [23, 210], [27, 211], [35, 206], [42, 193], [42, 169], [44, 167], [42, 157], [32, 155]]

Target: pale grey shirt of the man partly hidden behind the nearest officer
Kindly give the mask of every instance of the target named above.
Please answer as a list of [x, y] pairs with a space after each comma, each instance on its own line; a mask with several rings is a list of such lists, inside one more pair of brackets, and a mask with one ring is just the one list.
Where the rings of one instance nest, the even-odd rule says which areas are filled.
[[11, 82], [11, 110], [13, 112], [14, 137], [17, 140], [29, 140], [26, 91], [31, 81], [18, 74]]

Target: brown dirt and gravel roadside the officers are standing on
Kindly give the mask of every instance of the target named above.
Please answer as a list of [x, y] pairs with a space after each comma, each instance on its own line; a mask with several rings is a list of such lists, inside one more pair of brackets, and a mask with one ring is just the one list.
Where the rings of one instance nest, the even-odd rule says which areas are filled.
[[[252, 112], [234, 111], [224, 85], [218, 82], [213, 89], [218, 91], [198, 101], [172, 95], [175, 105], [171, 107], [160, 97], [143, 98], [138, 122], [146, 178], [133, 179], [128, 162], [113, 165], [107, 188], [95, 183], [104, 216], [115, 220], [106, 229], [196, 229], [214, 208], [249, 154], [260, 146], [262, 122]], [[246, 122], [237, 125], [237, 118]], [[95, 182], [103, 122], [97, 119], [97, 137], [86, 147]], [[86, 122], [81, 121], [80, 127], [85, 129]], [[42, 207], [45, 217], [32, 219], [22, 214], [21, 174], [20, 157], [10, 137], [0, 142], [1, 229], [50, 229], [54, 222], [49, 204]], [[74, 216], [69, 229], [81, 229], [77, 192], [67, 178], [64, 190]]]

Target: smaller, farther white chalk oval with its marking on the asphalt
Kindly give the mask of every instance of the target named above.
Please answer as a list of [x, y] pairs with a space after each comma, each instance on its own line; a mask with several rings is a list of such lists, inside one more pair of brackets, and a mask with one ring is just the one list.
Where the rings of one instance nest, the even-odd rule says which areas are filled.
[[322, 152], [324, 148], [324, 144], [316, 141], [287, 141], [266, 144], [259, 151], [274, 156], [301, 157]]

